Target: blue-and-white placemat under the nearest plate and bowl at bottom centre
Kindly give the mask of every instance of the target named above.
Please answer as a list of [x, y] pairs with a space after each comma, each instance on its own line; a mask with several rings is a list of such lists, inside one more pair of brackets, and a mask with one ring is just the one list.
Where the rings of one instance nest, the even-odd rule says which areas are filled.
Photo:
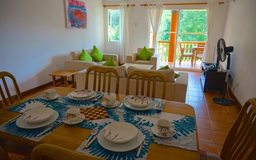
[[[99, 131], [101, 129], [103, 129], [106, 125], [110, 124], [111, 122], [113, 122], [113, 120], [105, 119], [104, 121], [102, 121], [101, 124], [98, 126]], [[86, 141], [84, 141], [76, 149], [76, 151], [80, 152], [80, 153], [85, 153], [85, 154], [90, 154], [90, 155], [102, 157], [102, 158], [109, 159], [109, 160], [114, 160], [114, 159], [123, 159], [123, 160], [126, 160], [126, 159], [146, 159], [147, 152], [150, 148], [150, 144], [153, 141], [152, 135], [151, 135], [150, 131], [147, 129], [147, 127], [141, 126], [141, 125], [136, 125], [136, 127], [138, 129], [140, 129], [141, 132], [144, 135], [146, 135], [139, 157], [136, 156], [137, 148], [133, 149], [131, 151], [126, 151], [126, 152], [113, 152], [113, 151], [110, 151], [110, 150], [107, 150], [107, 149], [101, 147], [97, 140], [95, 140], [86, 149], [82, 148], [84, 143], [86, 143]]]

